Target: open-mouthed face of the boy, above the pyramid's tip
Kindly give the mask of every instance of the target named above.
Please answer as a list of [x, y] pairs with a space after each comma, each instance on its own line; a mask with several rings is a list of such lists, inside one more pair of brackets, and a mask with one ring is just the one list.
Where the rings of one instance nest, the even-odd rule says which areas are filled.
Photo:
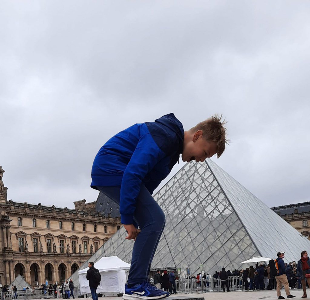
[[191, 134], [191, 139], [183, 144], [182, 161], [204, 161], [207, 157], [212, 157], [217, 153], [216, 143], [207, 141], [202, 131], [198, 130]]

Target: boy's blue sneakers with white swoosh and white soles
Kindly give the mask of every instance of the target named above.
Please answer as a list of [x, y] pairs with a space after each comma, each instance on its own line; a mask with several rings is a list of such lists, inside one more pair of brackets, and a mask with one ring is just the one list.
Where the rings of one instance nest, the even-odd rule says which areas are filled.
[[139, 300], [139, 299], [161, 299], [170, 295], [169, 292], [164, 292], [162, 289], [157, 289], [155, 285], [143, 282], [136, 284], [129, 288], [128, 284], [125, 285], [125, 293], [123, 299], [125, 300]]

